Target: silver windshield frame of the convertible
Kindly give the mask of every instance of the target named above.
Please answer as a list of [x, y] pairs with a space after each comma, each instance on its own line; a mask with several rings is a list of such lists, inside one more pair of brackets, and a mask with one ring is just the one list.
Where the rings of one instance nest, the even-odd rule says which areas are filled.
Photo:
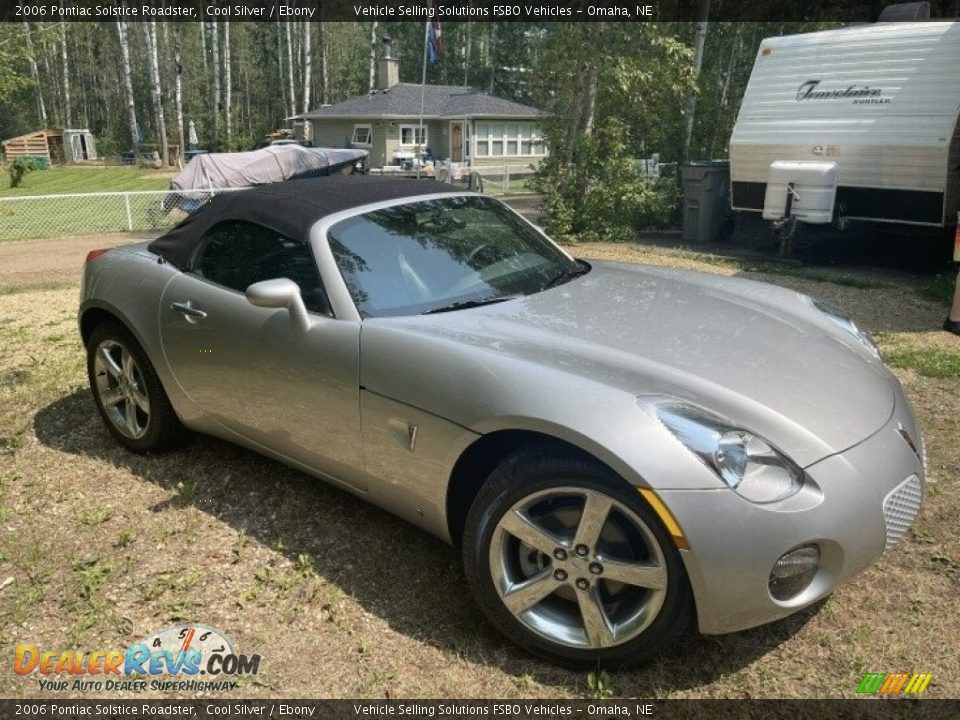
[[523, 223], [529, 226], [533, 232], [539, 235], [546, 243], [553, 246], [553, 248], [555, 248], [560, 254], [570, 260], [571, 263], [579, 265], [579, 262], [576, 258], [560, 247], [560, 245], [558, 245], [537, 225], [534, 225], [506, 203], [482, 193], [452, 189], [450, 192], [431, 193], [426, 195], [410, 195], [403, 198], [394, 198], [393, 200], [358, 205], [357, 207], [350, 208], [349, 210], [342, 210], [338, 213], [321, 218], [310, 229], [310, 243], [313, 245], [314, 256], [317, 259], [317, 264], [320, 266], [320, 274], [327, 286], [327, 294], [329, 296], [330, 303], [334, 308], [336, 317], [363, 321], [372, 319], [382, 320], [389, 318], [410, 318], [417, 317], [417, 314], [382, 315], [376, 317], [364, 316], [361, 313], [360, 308], [358, 308], [354, 302], [353, 296], [350, 294], [350, 290], [347, 287], [346, 278], [344, 278], [343, 273], [340, 270], [340, 266], [337, 263], [337, 259], [334, 256], [333, 249], [330, 246], [330, 229], [333, 228], [334, 225], [337, 225], [344, 220], [348, 220], [358, 215], [364, 215], [366, 213], [382, 210], [384, 208], [396, 207], [398, 205], [415, 205], [431, 200], [442, 200], [453, 197], [478, 197], [498, 203], [502, 208], [523, 221]]

